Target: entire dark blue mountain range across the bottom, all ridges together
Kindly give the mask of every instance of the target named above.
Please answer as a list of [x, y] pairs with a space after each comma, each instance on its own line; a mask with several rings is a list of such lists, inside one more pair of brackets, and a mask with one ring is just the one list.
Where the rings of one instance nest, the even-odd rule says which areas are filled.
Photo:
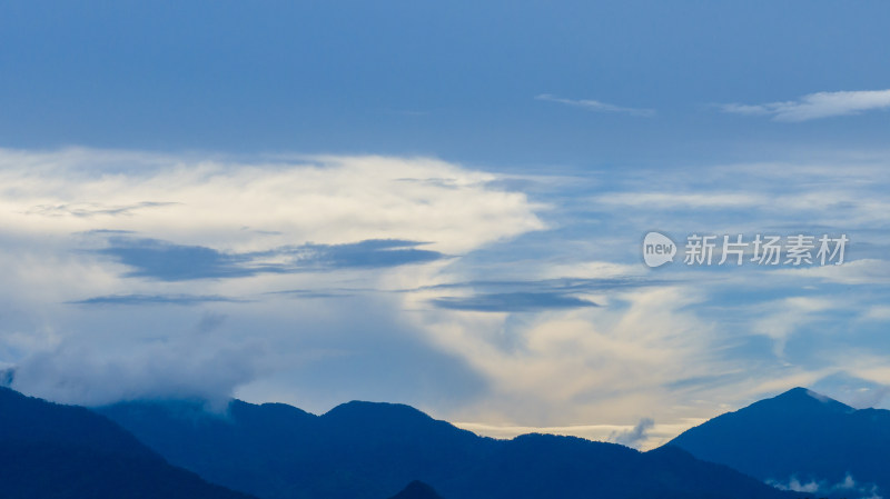
[[890, 411], [802, 388], [647, 452], [495, 440], [394, 403], [86, 409], [0, 388], [0, 496], [12, 499], [874, 499], [890, 490], [888, 449]]

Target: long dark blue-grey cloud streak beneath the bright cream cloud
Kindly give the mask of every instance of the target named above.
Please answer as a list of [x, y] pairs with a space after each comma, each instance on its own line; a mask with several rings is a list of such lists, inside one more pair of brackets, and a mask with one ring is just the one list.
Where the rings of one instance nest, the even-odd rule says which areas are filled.
[[[222, 279], [258, 273], [293, 273], [337, 269], [386, 268], [445, 258], [417, 247], [418, 241], [368, 239], [346, 244], [286, 246], [269, 251], [229, 253], [204, 246], [176, 244], [159, 239], [112, 236], [95, 252], [129, 267], [127, 277], [162, 281]], [[267, 263], [269, 260], [275, 263]]]

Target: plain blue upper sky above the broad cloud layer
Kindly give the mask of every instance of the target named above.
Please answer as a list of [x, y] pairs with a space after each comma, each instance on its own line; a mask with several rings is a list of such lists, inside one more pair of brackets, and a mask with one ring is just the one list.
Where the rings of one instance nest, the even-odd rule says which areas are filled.
[[[887, 88], [887, 14], [878, 1], [11, 1], [0, 133], [28, 147], [532, 169], [878, 146], [880, 116], [789, 127], [712, 106]], [[655, 114], [578, 112], [541, 94]]]

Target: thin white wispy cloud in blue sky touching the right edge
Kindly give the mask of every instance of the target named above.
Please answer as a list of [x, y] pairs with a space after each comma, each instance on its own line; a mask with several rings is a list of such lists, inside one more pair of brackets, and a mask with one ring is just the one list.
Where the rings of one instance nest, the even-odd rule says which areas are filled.
[[809, 121], [890, 108], [890, 89], [818, 92], [784, 102], [730, 103], [720, 108], [734, 114], [771, 116], [773, 121]]

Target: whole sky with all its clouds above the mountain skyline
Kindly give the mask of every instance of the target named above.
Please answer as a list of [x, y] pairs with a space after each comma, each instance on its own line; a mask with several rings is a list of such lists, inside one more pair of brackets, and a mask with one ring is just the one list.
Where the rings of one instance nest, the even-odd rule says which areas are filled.
[[890, 408], [888, 14], [4, 1], [0, 370], [641, 448], [795, 386]]

